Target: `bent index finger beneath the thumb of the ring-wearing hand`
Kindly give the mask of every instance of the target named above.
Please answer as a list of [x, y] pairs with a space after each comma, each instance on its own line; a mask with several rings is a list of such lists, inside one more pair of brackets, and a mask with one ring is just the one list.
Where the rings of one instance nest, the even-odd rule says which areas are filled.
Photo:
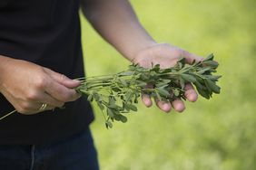
[[50, 82], [46, 84], [45, 92], [54, 99], [62, 102], [74, 101], [81, 97], [81, 94], [77, 93], [75, 90], [68, 89], [54, 80], [50, 80]]

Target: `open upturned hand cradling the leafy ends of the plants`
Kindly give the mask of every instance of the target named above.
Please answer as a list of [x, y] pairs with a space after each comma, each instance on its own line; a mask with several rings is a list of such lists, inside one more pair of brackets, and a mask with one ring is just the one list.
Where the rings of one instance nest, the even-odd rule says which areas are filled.
[[[155, 43], [150, 47], [143, 49], [143, 51], [138, 52], [134, 57], [133, 62], [146, 68], [152, 67], [152, 64], [160, 64], [161, 68], [165, 69], [174, 66], [181, 58], [185, 58], [187, 63], [192, 63], [194, 60], [203, 60], [202, 57], [195, 56], [190, 52], [186, 52], [170, 44]], [[193, 89], [191, 83], [188, 83], [185, 86], [185, 97], [192, 102], [196, 101], [198, 98], [197, 92]], [[172, 103], [155, 99], [155, 102], [158, 108], [165, 112], [170, 112], [172, 108], [178, 112], [182, 112], [185, 109], [182, 99], [175, 99]], [[153, 105], [152, 99], [146, 94], [143, 94], [143, 103], [146, 107], [151, 107]]]

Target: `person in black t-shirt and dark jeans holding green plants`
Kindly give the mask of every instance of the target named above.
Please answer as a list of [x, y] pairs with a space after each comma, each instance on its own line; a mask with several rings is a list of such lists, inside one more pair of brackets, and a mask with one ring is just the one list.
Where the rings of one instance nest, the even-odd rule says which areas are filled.
[[[90, 104], [74, 88], [84, 77], [79, 8], [94, 29], [129, 61], [173, 66], [202, 57], [155, 42], [128, 0], [1, 0], [0, 169], [99, 169], [89, 125]], [[197, 99], [191, 84], [190, 101]], [[143, 95], [146, 107], [153, 105]], [[182, 112], [180, 99], [155, 100], [164, 112]]]

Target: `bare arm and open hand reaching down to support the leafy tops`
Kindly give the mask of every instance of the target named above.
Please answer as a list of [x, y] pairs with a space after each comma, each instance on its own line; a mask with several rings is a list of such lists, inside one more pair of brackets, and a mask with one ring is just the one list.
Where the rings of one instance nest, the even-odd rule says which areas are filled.
[[[125, 58], [144, 67], [151, 67], [152, 63], [160, 64], [162, 68], [171, 67], [183, 57], [188, 63], [202, 60], [202, 57], [168, 43], [155, 42], [143, 29], [128, 0], [82, 0], [82, 9], [95, 30], [107, 42], [113, 44]], [[195, 101], [197, 93], [192, 84], [187, 84], [185, 89], [186, 98]], [[172, 108], [179, 112], [185, 109], [181, 99], [175, 99], [172, 103], [155, 102], [165, 112]], [[147, 95], [143, 95], [143, 103], [147, 107], [153, 104]]]

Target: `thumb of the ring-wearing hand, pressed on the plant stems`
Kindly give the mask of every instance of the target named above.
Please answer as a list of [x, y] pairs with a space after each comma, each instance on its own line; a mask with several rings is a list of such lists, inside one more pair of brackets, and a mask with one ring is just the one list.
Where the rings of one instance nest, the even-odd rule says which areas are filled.
[[66, 88], [74, 89], [78, 87], [81, 83], [80, 80], [71, 80], [64, 74], [60, 74], [47, 68], [44, 68], [44, 71], [48, 73], [54, 80], [64, 85]]

